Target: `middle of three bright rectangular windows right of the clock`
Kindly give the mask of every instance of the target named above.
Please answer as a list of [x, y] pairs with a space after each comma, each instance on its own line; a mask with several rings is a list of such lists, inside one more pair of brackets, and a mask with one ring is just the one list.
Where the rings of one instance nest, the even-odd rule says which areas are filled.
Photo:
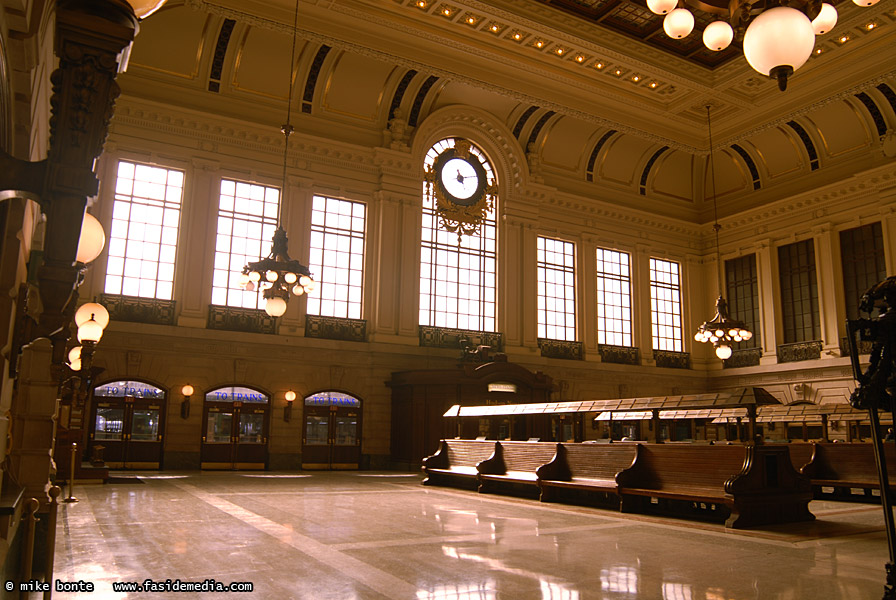
[[625, 252], [597, 249], [597, 343], [632, 345], [632, 280]]

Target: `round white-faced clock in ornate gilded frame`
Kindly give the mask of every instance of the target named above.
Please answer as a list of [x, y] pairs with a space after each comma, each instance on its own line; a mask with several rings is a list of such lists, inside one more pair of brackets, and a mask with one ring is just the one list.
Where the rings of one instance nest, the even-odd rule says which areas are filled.
[[433, 201], [442, 226], [464, 235], [479, 230], [495, 205], [498, 187], [488, 181], [482, 160], [470, 152], [470, 142], [456, 140], [426, 169], [426, 195]]

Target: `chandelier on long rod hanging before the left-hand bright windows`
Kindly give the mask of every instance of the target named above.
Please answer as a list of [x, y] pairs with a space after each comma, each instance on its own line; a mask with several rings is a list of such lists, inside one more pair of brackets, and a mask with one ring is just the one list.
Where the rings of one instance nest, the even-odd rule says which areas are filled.
[[292, 115], [292, 67], [295, 64], [296, 34], [298, 32], [299, 2], [296, 0], [296, 13], [292, 27], [292, 53], [289, 61], [289, 74], [286, 80], [289, 93], [286, 101], [286, 124], [283, 125], [283, 187], [281, 188], [280, 210], [277, 215], [277, 229], [271, 243], [271, 253], [261, 260], [250, 262], [243, 267], [240, 275], [240, 287], [248, 292], [261, 291], [265, 299], [264, 311], [272, 317], [283, 316], [290, 295], [301, 296], [314, 291], [315, 283], [308, 267], [289, 257], [289, 241], [283, 229], [283, 208], [286, 205], [286, 163], [289, 154], [289, 136], [293, 132], [290, 124]]

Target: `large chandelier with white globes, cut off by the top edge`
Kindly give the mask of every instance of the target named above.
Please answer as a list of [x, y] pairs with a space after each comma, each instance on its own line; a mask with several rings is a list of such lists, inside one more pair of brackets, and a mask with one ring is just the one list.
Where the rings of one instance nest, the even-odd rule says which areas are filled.
[[[852, 1], [874, 6], [879, 0]], [[694, 29], [694, 15], [683, 6], [686, 2], [718, 17], [703, 30], [707, 48], [724, 50], [737, 37], [743, 41], [750, 66], [777, 79], [781, 91], [787, 89], [787, 78], [809, 60], [815, 36], [828, 33], [837, 24], [837, 9], [822, 0], [647, 0], [647, 8], [665, 15], [666, 35], [681, 39]]]

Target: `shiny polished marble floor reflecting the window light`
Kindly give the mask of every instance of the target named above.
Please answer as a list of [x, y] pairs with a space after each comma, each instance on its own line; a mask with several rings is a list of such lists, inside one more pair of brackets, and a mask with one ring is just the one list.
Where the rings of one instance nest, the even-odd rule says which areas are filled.
[[[855, 600], [883, 593], [887, 544], [874, 505], [816, 501], [813, 523], [729, 531], [424, 487], [417, 474], [119, 475], [118, 483], [76, 487], [80, 502], [60, 508], [55, 579], [94, 591], [54, 598]], [[250, 582], [252, 591], [185, 595], [165, 591], [166, 580], [172, 587]], [[144, 591], [113, 589], [128, 582]]]

